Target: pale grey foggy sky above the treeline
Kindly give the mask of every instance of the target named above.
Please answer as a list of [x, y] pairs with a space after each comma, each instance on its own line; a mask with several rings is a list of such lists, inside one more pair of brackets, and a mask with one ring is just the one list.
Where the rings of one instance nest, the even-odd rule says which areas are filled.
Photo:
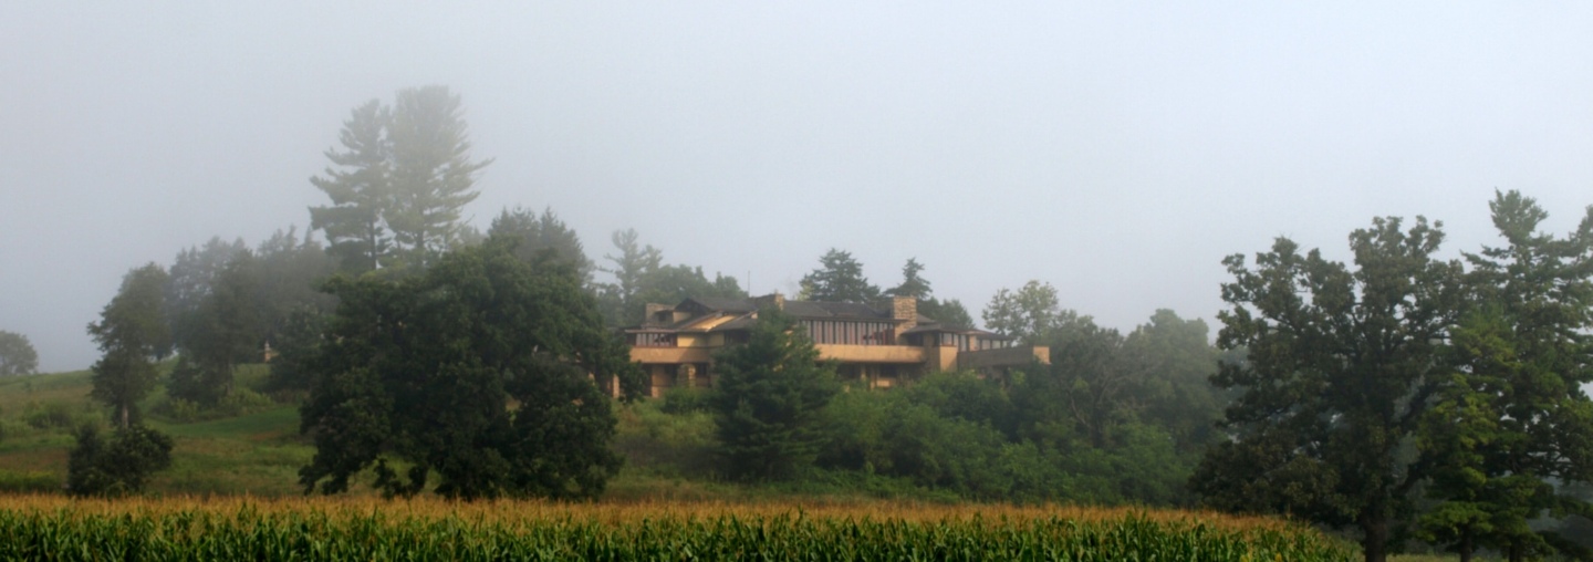
[[[790, 291], [836, 247], [1131, 330], [1211, 322], [1225, 255], [1343, 256], [1376, 215], [1493, 242], [1493, 189], [1593, 204], [1593, 3], [0, 5], [0, 330], [45, 371], [139, 264], [325, 204], [349, 110], [462, 94], [470, 207], [551, 205], [601, 258]], [[1214, 326], [1215, 328], [1215, 326]]]

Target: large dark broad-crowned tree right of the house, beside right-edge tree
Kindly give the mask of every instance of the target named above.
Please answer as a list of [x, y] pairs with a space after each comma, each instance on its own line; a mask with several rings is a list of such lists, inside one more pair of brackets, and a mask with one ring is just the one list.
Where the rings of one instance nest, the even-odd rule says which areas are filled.
[[1432, 256], [1442, 224], [1400, 224], [1354, 231], [1356, 269], [1282, 237], [1254, 269], [1223, 260], [1235, 279], [1217, 342], [1249, 358], [1212, 377], [1243, 395], [1227, 411], [1231, 438], [1192, 478], [1204, 502], [1354, 525], [1365, 559], [1386, 559], [1391, 524], [1427, 476], [1400, 452], [1451, 373], [1461, 299], [1461, 264]]

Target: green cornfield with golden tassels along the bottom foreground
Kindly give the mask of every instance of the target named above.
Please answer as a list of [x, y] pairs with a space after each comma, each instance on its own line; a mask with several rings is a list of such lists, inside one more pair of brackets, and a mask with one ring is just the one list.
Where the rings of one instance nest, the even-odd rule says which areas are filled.
[[0, 497], [14, 560], [1351, 560], [1276, 519], [924, 505]]

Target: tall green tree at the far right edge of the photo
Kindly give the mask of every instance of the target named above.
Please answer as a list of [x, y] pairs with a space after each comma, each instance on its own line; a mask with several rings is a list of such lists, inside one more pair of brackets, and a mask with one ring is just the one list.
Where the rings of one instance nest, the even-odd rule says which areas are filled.
[[1517, 191], [1489, 209], [1507, 245], [1466, 255], [1459, 369], [1421, 435], [1440, 505], [1421, 522], [1462, 559], [1491, 546], [1521, 560], [1553, 548], [1531, 519], [1593, 513], [1550, 484], [1593, 481], [1593, 209], [1566, 237], [1539, 232], [1548, 213]]

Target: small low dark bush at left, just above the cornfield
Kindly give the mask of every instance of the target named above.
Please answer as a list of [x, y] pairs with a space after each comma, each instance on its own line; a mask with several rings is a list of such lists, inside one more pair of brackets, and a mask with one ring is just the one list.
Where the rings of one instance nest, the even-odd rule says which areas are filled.
[[72, 495], [126, 495], [143, 490], [155, 471], [172, 463], [172, 438], [143, 425], [118, 428], [107, 443], [84, 423], [67, 463]]

